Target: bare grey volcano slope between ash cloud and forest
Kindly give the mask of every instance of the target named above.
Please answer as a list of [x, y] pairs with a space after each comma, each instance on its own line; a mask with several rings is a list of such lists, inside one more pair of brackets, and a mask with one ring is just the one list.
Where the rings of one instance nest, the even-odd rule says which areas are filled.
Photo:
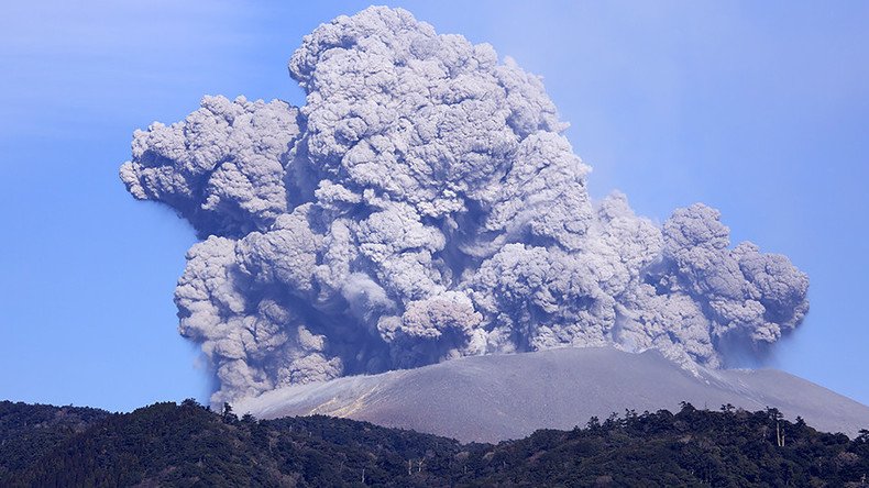
[[374, 376], [293, 386], [237, 402], [272, 419], [320, 413], [414, 429], [460, 441], [519, 439], [538, 429], [571, 429], [625, 409], [730, 403], [774, 407], [820, 430], [850, 436], [869, 428], [869, 407], [772, 369], [701, 370], [697, 376], [656, 352], [562, 348], [476, 356]]

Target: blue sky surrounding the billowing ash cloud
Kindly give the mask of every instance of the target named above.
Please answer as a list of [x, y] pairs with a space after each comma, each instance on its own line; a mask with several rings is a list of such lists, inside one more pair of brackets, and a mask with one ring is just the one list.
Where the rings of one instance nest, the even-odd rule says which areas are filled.
[[[256, 3], [256, 7], [252, 4]], [[389, 2], [542, 75], [592, 195], [706, 202], [809, 273], [779, 367], [869, 403], [869, 3]], [[365, 2], [18, 2], [0, 16], [0, 399], [129, 410], [210, 392], [172, 293], [195, 242], [119, 181], [202, 95], [302, 103], [301, 36]]]

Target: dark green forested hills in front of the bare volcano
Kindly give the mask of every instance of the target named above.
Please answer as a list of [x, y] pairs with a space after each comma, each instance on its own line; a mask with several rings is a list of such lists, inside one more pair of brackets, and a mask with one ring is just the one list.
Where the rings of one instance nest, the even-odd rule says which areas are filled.
[[131, 413], [0, 402], [0, 486], [869, 486], [869, 431], [776, 409], [626, 411], [491, 444], [194, 400]]

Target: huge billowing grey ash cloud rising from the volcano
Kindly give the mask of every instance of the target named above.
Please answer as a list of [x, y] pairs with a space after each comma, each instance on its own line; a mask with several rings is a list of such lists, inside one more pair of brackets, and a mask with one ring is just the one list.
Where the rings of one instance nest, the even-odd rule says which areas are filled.
[[306, 104], [206, 97], [134, 135], [121, 178], [204, 241], [175, 293], [215, 401], [452, 357], [615, 344], [761, 355], [807, 311], [784, 256], [717, 211], [660, 229], [585, 166], [535, 76], [370, 8], [305, 37]]

